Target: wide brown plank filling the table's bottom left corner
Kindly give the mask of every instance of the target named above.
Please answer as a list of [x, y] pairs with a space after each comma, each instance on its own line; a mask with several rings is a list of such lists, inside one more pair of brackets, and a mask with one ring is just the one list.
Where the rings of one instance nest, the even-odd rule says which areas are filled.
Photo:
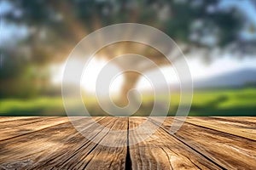
[[[86, 118], [85, 118], [86, 119]], [[96, 118], [101, 121], [102, 118]], [[80, 121], [80, 120], [79, 120]], [[93, 131], [90, 123], [79, 122], [84, 131]], [[4, 168], [43, 168], [55, 167], [56, 164], [67, 161], [88, 140], [68, 123], [45, 128], [37, 133], [28, 133], [14, 139], [0, 142], [0, 167]]]

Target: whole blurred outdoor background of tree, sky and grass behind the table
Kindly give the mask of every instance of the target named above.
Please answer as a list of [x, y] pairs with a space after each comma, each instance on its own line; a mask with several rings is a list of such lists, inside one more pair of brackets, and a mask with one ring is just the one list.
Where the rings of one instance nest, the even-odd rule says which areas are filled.
[[[0, 116], [66, 116], [61, 78], [68, 54], [90, 32], [124, 22], [154, 26], [182, 48], [195, 88], [189, 116], [256, 116], [254, 0], [2, 0], [0, 16]], [[172, 92], [169, 116], [175, 115], [175, 70], [160, 52], [144, 46], [113, 44], [91, 61], [81, 88], [92, 116], [107, 115], [96, 104], [97, 74], [108, 59], [131, 51], [160, 65]], [[145, 74], [154, 76], [154, 68]], [[79, 84], [68, 81], [72, 93]], [[135, 115], [147, 116], [154, 98], [145, 78], [128, 73], [110, 91], [125, 103], [122, 96], [131, 88], [144, 94]], [[160, 90], [161, 82], [154, 88]]]

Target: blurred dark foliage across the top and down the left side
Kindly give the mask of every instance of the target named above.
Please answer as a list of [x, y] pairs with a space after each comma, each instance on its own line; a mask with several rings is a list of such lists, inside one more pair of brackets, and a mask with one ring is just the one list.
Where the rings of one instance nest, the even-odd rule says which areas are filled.
[[[221, 0], [6, 2], [11, 10], [2, 14], [3, 20], [17, 27], [25, 26], [27, 34], [22, 40], [12, 37], [15, 46], [3, 43], [1, 47], [4, 49], [4, 66], [0, 71], [1, 97], [8, 93], [35, 95], [47, 88], [49, 64], [67, 59], [73, 47], [90, 32], [117, 23], [154, 26], [166, 32], [178, 45], [185, 46], [183, 53], [202, 49], [205, 51], [202, 58], [209, 61], [212, 58], [208, 55], [215, 48], [241, 53], [241, 56], [255, 50], [255, 41], [241, 40], [240, 37], [247, 18], [237, 8], [218, 8]], [[253, 28], [249, 28], [250, 32], [255, 30]], [[214, 54], [214, 58], [217, 56]], [[16, 88], [23, 92], [19, 94]]]

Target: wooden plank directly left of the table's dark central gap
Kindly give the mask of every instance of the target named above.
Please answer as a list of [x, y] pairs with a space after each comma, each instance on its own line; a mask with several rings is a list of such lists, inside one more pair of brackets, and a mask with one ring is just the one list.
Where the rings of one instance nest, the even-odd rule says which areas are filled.
[[[121, 122], [117, 118], [107, 117], [100, 121], [104, 127], [94, 124], [87, 128], [87, 138], [80, 139], [76, 143], [67, 140], [68, 147], [58, 148], [54, 156], [49, 156], [44, 161], [38, 162], [34, 168], [46, 169], [103, 169], [106, 167], [115, 167], [121, 169], [125, 165], [126, 147], [108, 147], [102, 146], [105, 142], [115, 142], [116, 137], [110, 138], [109, 131], [113, 128], [125, 127], [126, 122]], [[126, 127], [127, 128], [127, 127]], [[79, 134], [79, 136], [81, 136]], [[125, 135], [123, 135], [125, 136]], [[73, 137], [78, 139], [78, 137]], [[112, 139], [112, 140], [111, 140]], [[126, 142], [126, 136], [125, 136]]]

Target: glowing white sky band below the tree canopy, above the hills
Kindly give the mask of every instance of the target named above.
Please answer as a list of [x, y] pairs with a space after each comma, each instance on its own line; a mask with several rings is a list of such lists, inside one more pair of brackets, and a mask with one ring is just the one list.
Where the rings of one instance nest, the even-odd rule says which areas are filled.
[[[74, 60], [75, 65], [81, 65], [81, 62], [79, 60]], [[98, 77], [98, 74], [102, 70], [102, 67], [106, 65], [107, 62], [105, 60], [100, 59], [92, 59], [90, 61], [90, 64], [87, 67], [86, 72], [84, 72], [84, 75], [81, 79], [81, 87], [84, 88], [85, 91], [90, 92], [92, 94], [96, 91], [96, 78]], [[216, 60], [213, 60], [211, 64], [206, 65], [201, 59], [196, 58], [189, 58], [188, 59], [188, 65], [190, 69], [191, 76], [193, 80], [201, 79], [204, 77], [212, 77], [215, 75], [224, 74], [225, 72], [229, 71], [236, 71], [240, 69], [247, 69], [252, 68], [256, 69], [256, 59], [252, 58], [245, 58], [245, 59], [231, 59], [230, 57], [226, 56], [223, 58], [219, 58]], [[53, 72], [52, 82], [55, 84], [60, 84], [63, 76], [64, 71], [64, 64], [63, 65], [54, 65], [51, 67], [51, 70]], [[110, 66], [109, 71], [118, 71], [118, 68], [114, 65]], [[176, 71], [172, 67], [163, 67], [161, 68], [161, 71], [163, 72], [164, 76], [166, 77], [166, 80], [160, 80], [157, 84], [162, 85], [163, 83], [177, 83], [178, 82], [178, 76], [176, 74]], [[156, 72], [150, 71], [145, 73], [146, 76], [152, 75], [154, 76]], [[119, 89], [123, 83], [124, 77], [119, 76], [116, 77], [113, 80], [113, 83], [110, 86], [110, 93], [118, 93]], [[73, 80], [73, 77], [67, 77], [67, 82], [75, 82]], [[139, 82], [137, 83], [138, 89], [150, 89], [150, 83], [148, 80], [144, 77], [142, 77]]]

